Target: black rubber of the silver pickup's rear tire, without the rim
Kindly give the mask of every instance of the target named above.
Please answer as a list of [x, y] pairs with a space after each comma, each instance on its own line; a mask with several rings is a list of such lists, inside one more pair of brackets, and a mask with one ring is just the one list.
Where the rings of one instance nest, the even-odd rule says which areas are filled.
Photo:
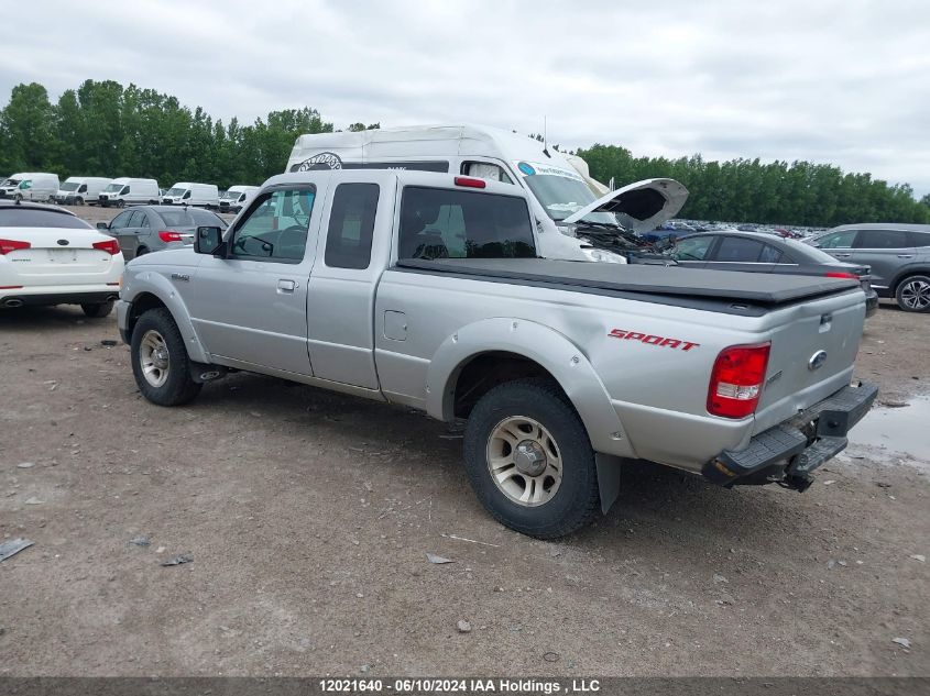
[[[552, 497], [536, 507], [512, 500], [494, 483], [488, 446], [497, 424], [510, 417], [536, 420], [551, 433], [561, 459], [561, 480]], [[584, 424], [561, 389], [548, 379], [519, 379], [491, 389], [474, 406], [464, 434], [464, 462], [471, 486], [502, 524], [537, 539], [565, 537], [597, 516], [600, 491], [594, 451]]]

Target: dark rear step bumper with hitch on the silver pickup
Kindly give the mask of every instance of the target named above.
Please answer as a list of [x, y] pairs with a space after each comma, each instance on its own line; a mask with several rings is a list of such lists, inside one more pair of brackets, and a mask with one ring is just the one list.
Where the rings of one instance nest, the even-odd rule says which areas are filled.
[[704, 464], [704, 477], [722, 486], [778, 483], [803, 490], [811, 473], [846, 449], [846, 434], [872, 408], [878, 387], [861, 383], [769, 428], [738, 452], [725, 450]]

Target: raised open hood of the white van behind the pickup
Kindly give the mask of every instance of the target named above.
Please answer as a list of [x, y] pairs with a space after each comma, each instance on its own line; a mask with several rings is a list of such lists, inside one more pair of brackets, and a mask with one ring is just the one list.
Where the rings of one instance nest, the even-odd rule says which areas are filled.
[[686, 200], [688, 189], [675, 179], [644, 179], [611, 191], [560, 222], [578, 222], [592, 212], [613, 212], [623, 227], [642, 234], [678, 214]]

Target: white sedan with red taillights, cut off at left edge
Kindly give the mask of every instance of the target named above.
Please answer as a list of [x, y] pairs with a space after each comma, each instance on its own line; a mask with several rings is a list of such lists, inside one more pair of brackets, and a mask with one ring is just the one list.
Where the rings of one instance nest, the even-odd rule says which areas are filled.
[[106, 317], [123, 266], [119, 242], [74, 213], [0, 201], [0, 308], [80, 305]]

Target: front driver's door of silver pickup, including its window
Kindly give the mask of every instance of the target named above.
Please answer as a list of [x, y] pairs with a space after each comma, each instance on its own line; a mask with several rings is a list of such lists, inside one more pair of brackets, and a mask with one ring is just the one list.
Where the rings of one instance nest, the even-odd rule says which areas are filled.
[[233, 366], [313, 375], [307, 280], [322, 194], [313, 184], [265, 190], [227, 235], [227, 256], [204, 256], [184, 296], [210, 354]]

